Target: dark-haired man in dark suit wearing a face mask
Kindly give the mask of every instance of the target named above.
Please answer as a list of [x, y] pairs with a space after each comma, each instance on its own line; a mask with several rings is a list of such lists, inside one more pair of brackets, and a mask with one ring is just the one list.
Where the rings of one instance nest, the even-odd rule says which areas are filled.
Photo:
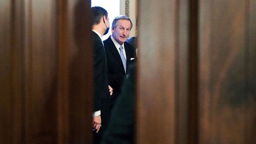
[[93, 143], [100, 143], [102, 134], [107, 127], [110, 116], [110, 95], [112, 88], [108, 85], [107, 59], [102, 35], [108, 33], [110, 26], [108, 13], [99, 6], [92, 10], [92, 40], [93, 40], [93, 84], [94, 84], [94, 112], [92, 114]]

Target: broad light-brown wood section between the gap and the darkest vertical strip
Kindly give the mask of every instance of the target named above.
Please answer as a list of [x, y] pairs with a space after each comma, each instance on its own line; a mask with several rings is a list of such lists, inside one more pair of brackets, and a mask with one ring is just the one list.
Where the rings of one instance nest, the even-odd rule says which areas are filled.
[[187, 142], [188, 4], [138, 3], [137, 143]]

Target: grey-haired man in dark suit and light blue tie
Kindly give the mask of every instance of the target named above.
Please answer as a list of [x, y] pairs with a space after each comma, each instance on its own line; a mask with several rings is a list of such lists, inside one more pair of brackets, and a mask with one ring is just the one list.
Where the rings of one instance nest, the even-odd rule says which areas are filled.
[[113, 88], [113, 94], [110, 97], [110, 110], [121, 92], [121, 85], [126, 76], [126, 67], [136, 58], [134, 47], [125, 42], [131, 28], [131, 19], [125, 15], [119, 15], [112, 22], [112, 35], [103, 41], [108, 62], [108, 82]]

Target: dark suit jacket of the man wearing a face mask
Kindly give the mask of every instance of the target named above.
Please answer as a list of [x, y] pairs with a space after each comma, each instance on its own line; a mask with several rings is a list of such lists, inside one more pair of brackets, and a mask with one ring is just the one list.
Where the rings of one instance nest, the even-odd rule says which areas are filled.
[[101, 121], [109, 118], [110, 94], [108, 90], [108, 68], [104, 46], [100, 37], [93, 32], [93, 84], [94, 111], [101, 111]]

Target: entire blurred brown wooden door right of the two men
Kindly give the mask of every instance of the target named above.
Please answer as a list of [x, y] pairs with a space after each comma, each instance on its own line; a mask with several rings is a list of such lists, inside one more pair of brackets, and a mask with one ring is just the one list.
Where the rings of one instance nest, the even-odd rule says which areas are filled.
[[254, 1], [139, 1], [137, 143], [255, 143]]

